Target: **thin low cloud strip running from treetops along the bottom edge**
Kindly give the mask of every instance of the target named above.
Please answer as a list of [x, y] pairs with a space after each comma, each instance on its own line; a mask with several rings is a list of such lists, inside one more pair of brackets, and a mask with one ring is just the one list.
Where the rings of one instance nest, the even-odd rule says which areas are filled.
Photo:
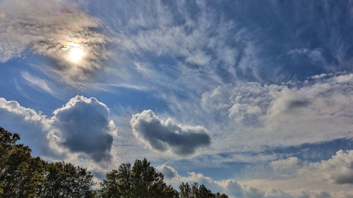
[[[329, 192], [325, 190], [303, 190], [300, 188], [294, 188], [290, 183], [289, 186], [292, 186], [290, 190], [281, 190], [282, 186], [276, 186], [274, 183], [272, 183], [269, 188], [261, 188], [232, 179], [213, 180], [208, 176], [195, 172], [189, 172], [188, 175], [181, 176], [174, 168], [167, 166], [166, 164], [157, 166], [156, 169], [164, 175], [168, 175], [165, 179], [174, 187], [179, 186], [181, 182], [198, 182], [199, 184], [203, 184], [210, 188], [213, 192], [225, 193], [229, 195], [229, 197], [234, 198], [349, 198], [352, 196], [352, 193], [345, 191]], [[264, 182], [272, 181], [267, 180]], [[280, 182], [283, 184], [287, 181], [281, 180]]]

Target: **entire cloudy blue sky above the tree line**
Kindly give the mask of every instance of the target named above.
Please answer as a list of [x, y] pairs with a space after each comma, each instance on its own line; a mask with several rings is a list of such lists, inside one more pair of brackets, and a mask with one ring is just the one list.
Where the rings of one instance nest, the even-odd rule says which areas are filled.
[[92, 171], [353, 197], [353, 1], [0, 0], [0, 126]]

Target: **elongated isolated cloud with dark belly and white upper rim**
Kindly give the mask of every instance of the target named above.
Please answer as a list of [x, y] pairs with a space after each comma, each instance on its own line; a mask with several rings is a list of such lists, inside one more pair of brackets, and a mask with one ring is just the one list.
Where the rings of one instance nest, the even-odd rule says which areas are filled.
[[160, 120], [152, 110], [134, 114], [130, 120], [133, 135], [152, 149], [175, 154], [195, 153], [199, 147], [210, 145], [210, 136], [201, 126], [177, 125], [171, 118]]

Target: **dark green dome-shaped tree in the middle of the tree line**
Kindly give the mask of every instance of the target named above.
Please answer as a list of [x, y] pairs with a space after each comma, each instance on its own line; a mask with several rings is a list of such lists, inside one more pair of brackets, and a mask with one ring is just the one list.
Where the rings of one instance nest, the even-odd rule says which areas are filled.
[[107, 178], [101, 182], [100, 195], [112, 198], [179, 197], [178, 192], [163, 180], [163, 174], [155, 171], [146, 159], [136, 160], [133, 166], [122, 163], [117, 171], [107, 173]]

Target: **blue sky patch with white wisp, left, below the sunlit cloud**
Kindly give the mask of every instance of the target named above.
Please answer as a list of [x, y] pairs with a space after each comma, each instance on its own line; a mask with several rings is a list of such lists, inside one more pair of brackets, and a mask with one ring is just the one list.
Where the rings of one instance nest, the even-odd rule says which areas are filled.
[[[51, 115], [54, 109], [61, 107], [64, 102], [66, 103], [68, 97], [64, 97], [64, 95], [62, 95], [63, 98], [56, 97], [56, 94], [61, 95], [59, 90], [61, 92], [64, 86], [44, 75], [37, 68], [40, 65], [36, 65], [36, 63], [42, 64], [46, 61], [41, 56], [28, 55], [26, 59], [13, 59], [0, 63], [0, 97], [4, 97], [8, 101], [18, 101], [21, 106]], [[38, 85], [40, 83], [44, 83], [44, 85]], [[52, 89], [49, 85], [45, 85], [46, 83], [60, 87], [60, 89]]]

